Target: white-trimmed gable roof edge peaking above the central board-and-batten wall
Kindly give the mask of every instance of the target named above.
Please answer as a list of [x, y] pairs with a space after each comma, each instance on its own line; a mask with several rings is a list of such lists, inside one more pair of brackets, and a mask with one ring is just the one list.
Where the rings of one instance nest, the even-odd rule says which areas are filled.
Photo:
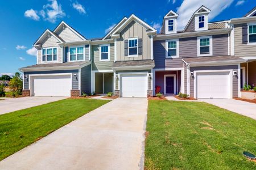
[[112, 33], [114, 35], [117, 32], [122, 31], [130, 22], [135, 20], [135, 22], [138, 22], [139, 24], [142, 25], [142, 27], [146, 28], [148, 31], [156, 32], [156, 29], [148, 25], [147, 23], [143, 22], [143, 20], [139, 19], [137, 16], [132, 14], [123, 24], [121, 24], [115, 31]]

